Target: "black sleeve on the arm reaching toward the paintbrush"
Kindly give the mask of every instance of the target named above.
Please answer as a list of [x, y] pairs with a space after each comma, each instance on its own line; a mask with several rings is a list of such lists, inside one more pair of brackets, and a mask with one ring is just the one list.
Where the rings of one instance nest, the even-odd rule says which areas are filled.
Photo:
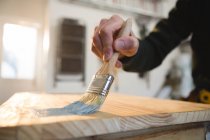
[[139, 40], [135, 56], [121, 59], [123, 69], [145, 72], [161, 64], [166, 55], [191, 33], [193, 0], [178, 0], [167, 19], [161, 20], [153, 31]]

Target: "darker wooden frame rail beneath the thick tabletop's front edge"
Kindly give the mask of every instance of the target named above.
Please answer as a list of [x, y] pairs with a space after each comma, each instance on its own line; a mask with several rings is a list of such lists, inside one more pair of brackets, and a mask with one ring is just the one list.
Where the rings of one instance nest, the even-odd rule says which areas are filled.
[[[112, 133], [77, 140], [204, 140], [205, 123], [192, 123]], [[190, 134], [193, 132], [192, 134]]]

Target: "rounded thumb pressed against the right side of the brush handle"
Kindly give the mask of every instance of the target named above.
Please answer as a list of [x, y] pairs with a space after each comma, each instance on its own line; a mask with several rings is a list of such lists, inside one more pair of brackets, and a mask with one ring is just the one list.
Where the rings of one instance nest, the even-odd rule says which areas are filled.
[[114, 49], [120, 54], [131, 57], [138, 51], [139, 41], [134, 36], [125, 36], [115, 40]]

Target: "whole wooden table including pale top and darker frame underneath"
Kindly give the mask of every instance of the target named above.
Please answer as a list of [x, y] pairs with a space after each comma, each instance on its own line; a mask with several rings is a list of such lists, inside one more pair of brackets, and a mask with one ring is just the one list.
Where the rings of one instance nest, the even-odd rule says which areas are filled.
[[17, 93], [0, 106], [0, 140], [204, 140], [210, 105], [110, 93], [91, 115], [40, 116], [79, 99], [71, 94]]

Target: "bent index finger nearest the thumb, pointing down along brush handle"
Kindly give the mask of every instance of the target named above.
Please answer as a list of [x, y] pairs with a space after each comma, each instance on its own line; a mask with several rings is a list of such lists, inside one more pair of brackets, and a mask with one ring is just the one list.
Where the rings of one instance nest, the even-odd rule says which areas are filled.
[[123, 19], [119, 16], [112, 16], [108, 22], [100, 27], [99, 36], [103, 46], [103, 59], [108, 61], [113, 55], [113, 38], [114, 34], [121, 28]]

